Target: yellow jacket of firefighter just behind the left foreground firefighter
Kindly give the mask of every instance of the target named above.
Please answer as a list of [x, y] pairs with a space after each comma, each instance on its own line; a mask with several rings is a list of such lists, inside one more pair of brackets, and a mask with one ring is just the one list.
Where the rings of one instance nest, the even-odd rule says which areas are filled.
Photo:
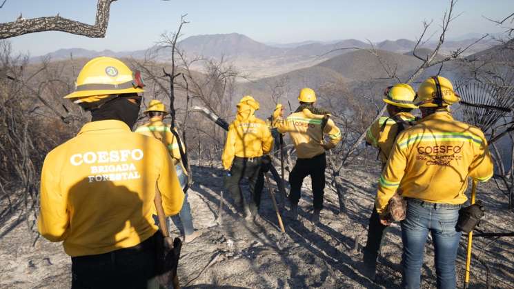
[[[177, 141], [175, 135], [171, 132], [170, 125], [162, 122], [161, 119], [154, 117], [150, 119], [150, 122], [145, 123], [143, 126], [139, 126], [139, 128], [137, 128], [135, 132], [148, 135], [148, 137], [155, 137], [156, 139], [159, 139], [159, 141], [164, 143], [164, 146], [168, 148], [168, 152], [170, 152], [170, 155], [172, 157], [173, 166], [177, 166], [177, 164], [180, 163], [180, 166], [182, 167], [184, 173], [186, 175], [188, 174], [181, 160], [179, 142]], [[177, 132], [176, 129], [175, 132]], [[186, 152], [184, 145], [182, 145], [181, 147], [182, 150]]]

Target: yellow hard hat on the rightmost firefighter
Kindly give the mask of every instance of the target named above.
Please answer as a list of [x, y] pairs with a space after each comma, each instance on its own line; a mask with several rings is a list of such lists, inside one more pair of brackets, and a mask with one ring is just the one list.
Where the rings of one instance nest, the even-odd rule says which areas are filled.
[[460, 100], [451, 82], [440, 76], [430, 77], [417, 89], [414, 104], [422, 107], [451, 106]]

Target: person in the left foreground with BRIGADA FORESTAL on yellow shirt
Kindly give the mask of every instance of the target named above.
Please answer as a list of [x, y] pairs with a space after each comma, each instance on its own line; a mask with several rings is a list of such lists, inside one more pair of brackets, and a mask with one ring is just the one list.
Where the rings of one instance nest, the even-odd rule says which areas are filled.
[[143, 86], [139, 72], [97, 57], [65, 97], [92, 119], [46, 155], [38, 228], [46, 239], [63, 241], [72, 288], [146, 288], [162, 241], [152, 218], [155, 190], [166, 215], [177, 214], [184, 201], [166, 147], [131, 132]]

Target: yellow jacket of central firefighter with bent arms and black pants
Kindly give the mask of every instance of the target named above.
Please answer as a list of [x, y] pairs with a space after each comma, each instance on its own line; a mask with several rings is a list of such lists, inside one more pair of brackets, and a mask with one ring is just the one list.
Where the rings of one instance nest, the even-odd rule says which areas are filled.
[[[332, 119], [328, 119], [325, 128], [322, 128], [323, 117], [304, 109], [290, 114], [285, 120], [277, 121], [276, 126], [280, 133], [289, 132], [299, 159], [321, 155], [341, 141], [341, 131]], [[323, 134], [328, 134], [330, 141], [325, 142]]]

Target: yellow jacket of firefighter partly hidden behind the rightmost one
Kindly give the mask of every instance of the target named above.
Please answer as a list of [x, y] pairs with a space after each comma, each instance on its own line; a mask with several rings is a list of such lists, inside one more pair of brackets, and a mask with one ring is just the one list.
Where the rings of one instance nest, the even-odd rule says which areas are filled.
[[[415, 117], [410, 112], [399, 112], [393, 117], [398, 116], [404, 121], [414, 121]], [[398, 125], [391, 117], [381, 117], [375, 121], [366, 132], [366, 142], [379, 149], [379, 158], [382, 163], [386, 163], [395, 143], [398, 134]]]

